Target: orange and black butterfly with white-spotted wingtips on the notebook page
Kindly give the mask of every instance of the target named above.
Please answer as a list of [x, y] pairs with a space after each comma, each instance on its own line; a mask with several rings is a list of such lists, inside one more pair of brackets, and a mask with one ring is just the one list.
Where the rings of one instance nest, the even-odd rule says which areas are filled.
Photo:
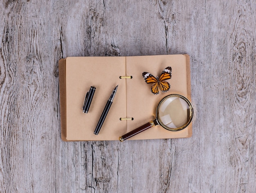
[[163, 70], [159, 77], [154, 77], [148, 72], [143, 72], [142, 77], [145, 79], [147, 84], [153, 83], [151, 86], [151, 92], [153, 94], [159, 94], [159, 90], [162, 90], [162, 92], [167, 92], [170, 89], [170, 84], [165, 80], [168, 80], [172, 77], [171, 71], [171, 66], [168, 66]]

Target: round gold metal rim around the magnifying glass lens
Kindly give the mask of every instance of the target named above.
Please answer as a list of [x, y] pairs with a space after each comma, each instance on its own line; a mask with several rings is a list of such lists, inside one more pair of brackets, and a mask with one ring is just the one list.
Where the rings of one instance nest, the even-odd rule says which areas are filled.
[[[186, 103], [189, 105], [189, 120], [186, 122], [185, 125], [182, 125], [181, 127], [177, 127], [177, 128], [167, 127], [166, 125], [164, 125], [164, 123], [159, 118], [159, 108], [161, 107], [162, 103], [164, 103], [166, 101], [166, 99], [169, 99], [171, 97], [179, 97], [179, 98], [183, 99], [184, 101], [186, 101]], [[185, 96], [180, 95], [180, 94], [170, 94], [170, 95], [164, 97], [158, 103], [155, 114], [156, 114], [156, 118], [155, 118], [155, 120], [153, 122], [157, 121], [158, 125], [161, 125], [162, 127], [164, 127], [164, 129], [167, 129], [169, 131], [180, 131], [182, 129], [185, 129], [191, 123], [192, 118], [193, 118], [193, 106], [192, 106], [191, 102], [189, 101], [189, 99], [187, 99]]]

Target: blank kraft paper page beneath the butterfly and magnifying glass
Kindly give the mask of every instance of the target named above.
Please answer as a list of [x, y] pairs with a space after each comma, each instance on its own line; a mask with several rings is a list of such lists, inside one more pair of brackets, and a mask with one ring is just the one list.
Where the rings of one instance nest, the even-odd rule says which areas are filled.
[[[133, 77], [131, 80], [127, 80], [129, 83], [126, 84], [127, 116], [134, 118], [133, 121], [127, 122], [128, 132], [152, 121], [155, 118], [157, 104], [164, 96], [169, 94], [187, 96], [186, 57], [184, 55], [126, 57], [126, 64], [127, 75], [132, 75]], [[171, 85], [170, 90], [168, 92], [160, 91], [157, 95], [152, 94], [150, 91], [151, 84], [146, 84], [142, 77], [142, 72], [146, 71], [157, 77], [167, 66], [172, 68], [172, 77], [166, 80]], [[183, 138], [187, 136], [188, 128], [171, 132], [157, 125], [137, 134], [132, 139]]]

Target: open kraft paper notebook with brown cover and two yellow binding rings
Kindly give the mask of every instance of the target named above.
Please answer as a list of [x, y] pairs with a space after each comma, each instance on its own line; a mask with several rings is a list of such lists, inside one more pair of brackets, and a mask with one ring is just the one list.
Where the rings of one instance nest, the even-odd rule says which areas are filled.
[[[142, 72], [159, 76], [167, 66], [172, 68], [171, 88], [157, 95], [151, 93]], [[132, 76], [120, 79], [120, 76]], [[118, 140], [119, 136], [152, 121], [159, 101], [169, 94], [191, 98], [189, 55], [155, 55], [129, 57], [67, 57], [59, 60], [59, 87], [61, 105], [61, 137], [74, 140]], [[94, 129], [112, 90], [117, 93], [98, 135]], [[88, 114], [82, 106], [90, 86], [96, 87]], [[133, 120], [120, 120], [133, 118]], [[135, 139], [186, 138], [192, 134], [189, 127], [172, 132], [157, 125]]]

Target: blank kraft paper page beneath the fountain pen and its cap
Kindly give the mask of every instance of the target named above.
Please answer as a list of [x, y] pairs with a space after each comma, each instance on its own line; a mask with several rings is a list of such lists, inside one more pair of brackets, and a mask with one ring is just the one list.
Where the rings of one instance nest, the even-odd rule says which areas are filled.
[[[68, 57], [66, 59], [66, 125], [67, 140], [117, 140], [126, 132], [126, 81], [124, 57]], [[98, 135], [94, 129], [115, 86], [118, 90], [103, 127]], [[96, 87], [87, 114], [82, 106], [90, 86]]]

